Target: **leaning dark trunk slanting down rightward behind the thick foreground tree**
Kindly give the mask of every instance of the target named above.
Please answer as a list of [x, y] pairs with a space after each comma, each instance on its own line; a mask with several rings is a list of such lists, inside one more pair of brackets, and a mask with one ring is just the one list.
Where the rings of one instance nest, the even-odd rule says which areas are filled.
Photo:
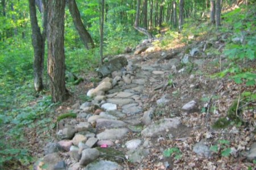
[[90, 49], [94, 48], [94, 42], [92, 40], [92, 37], [90, 36], [89, 32], [85, 29], [85, 26], [83, 25], [83, 22], [81, 20], [80, 13], [78, 11], [78, 6], [76, 5], [75, 0], [68, 0], [68, 6], [69, 6], [69, 12], [72, 16], [74, 25], [76, 27], [76, 30], [78, 31], [78, 34], [85, 45], [85, 48]]

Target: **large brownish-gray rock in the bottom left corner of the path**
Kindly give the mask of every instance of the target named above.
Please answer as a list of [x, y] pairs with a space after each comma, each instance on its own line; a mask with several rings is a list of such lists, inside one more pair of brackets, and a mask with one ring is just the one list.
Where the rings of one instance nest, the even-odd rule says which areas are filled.
[[45, 155], [34, 164], [34, 170], [42, 170], [42, 165], [47, 167], [47, 170], [54, 170], [54, 166], [61, 161], [61, 157], [58, 153], [52, 153]]

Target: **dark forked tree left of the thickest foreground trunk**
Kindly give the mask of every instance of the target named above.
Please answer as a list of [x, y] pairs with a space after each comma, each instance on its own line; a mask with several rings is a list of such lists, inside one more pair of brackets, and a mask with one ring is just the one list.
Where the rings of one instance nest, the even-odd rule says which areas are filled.
[[[45, 0], [43, 0], [42, 16], [45, 16], [44, 8]], [[34, 88], [36, 91], [43, 89], [43, 63], [45, 55], [45, 36], [46, 36], [46, 18], [43, 17], [43, 32], [41, 34], [40, 27], [36, 16], [35, 0], [29, 0], [29, 14], [32, 29], [32, 46], [34, 48]]]

